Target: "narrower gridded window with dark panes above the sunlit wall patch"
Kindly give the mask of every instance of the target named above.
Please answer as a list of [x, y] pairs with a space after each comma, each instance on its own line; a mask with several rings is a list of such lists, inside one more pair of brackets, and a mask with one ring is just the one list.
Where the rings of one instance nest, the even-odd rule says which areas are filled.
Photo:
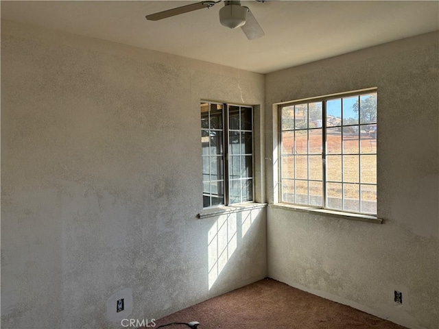
[[201, 102], [204, 208], [253, 200], [253, 110]]

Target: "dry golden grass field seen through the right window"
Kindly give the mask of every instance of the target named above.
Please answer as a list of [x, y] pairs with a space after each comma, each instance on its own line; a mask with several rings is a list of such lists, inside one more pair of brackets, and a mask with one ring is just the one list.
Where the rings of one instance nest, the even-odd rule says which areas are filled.
[[[327, 196], [376, 202], [376, 135], [355, 128], [343, 134], [341, 127], [327, 130]], [[322, 129], [308, 132], [282, 132], [282, 193], [304, 196], [309, 191], [316, 200], [323, 195]]]

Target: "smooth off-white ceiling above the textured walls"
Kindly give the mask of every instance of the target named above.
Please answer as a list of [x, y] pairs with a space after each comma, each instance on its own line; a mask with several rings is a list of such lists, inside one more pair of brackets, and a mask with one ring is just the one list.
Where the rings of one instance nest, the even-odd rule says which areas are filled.
[[1, 1], [1, 19], [268, 73], [439, 29], [439, 1], [241, 1], [265, 31], [247, 40], [218, 11], [161, 21], [146, 14], [195, 1]]

